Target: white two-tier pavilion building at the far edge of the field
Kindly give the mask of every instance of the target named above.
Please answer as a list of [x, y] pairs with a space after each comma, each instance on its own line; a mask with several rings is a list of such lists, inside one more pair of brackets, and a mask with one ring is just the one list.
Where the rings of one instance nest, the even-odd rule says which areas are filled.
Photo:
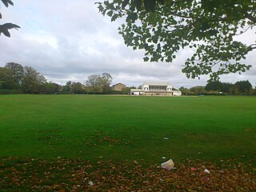
[[182, 95], [180, 90], [173, 90], [169, 82], [144, 82], [141, 89], [131, 89], [131, 95]]

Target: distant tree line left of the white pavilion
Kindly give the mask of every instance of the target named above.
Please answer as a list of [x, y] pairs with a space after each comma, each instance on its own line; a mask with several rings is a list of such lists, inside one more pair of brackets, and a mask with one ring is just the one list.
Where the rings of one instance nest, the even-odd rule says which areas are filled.
[[68, 81], [61, 86], [58, 83], [47, 81], [31, 66], [8, 62], [6, 66], [0, 67], [0, 93], [113, 94], [114, 91], [110, 86], [112, 79], [108, 73], [91, 74], [84, 83]]

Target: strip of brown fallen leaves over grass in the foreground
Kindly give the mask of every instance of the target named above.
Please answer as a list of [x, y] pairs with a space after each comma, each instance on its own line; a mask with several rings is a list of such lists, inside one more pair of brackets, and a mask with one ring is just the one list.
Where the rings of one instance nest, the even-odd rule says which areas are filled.
[[[0, 159], [0, 189], [14, 191], [256, 191], [250, 163], [200, 160], [159, 164], [82, 159]], [[205, 172], [210, 171], [210, 174]]]

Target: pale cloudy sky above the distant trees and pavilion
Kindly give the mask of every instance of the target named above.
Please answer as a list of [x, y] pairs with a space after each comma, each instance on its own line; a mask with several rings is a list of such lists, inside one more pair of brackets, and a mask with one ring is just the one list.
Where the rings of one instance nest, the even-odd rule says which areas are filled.
[[[11, 38], [0, 37], [0, 66], [17, 62], [32, 66], [49, 81], [85, 82], [90, 74], [112, 75], [113, 84], [139, 86], [142, 82], [170, 82], [174, 87], [205, 85], [201, 80], [182, 74], [190, 50], [180, 50], [172, 63], [143, 62], [143, 51], [132, 50], [118, 34], [119, 22], [98, 13], [94, 0], [13, 0], [14, 6], [1, 4], [1, 23], [13, 22], [22, 27], [11, 30]], [[102, 0], [98, 0], [102, 2]], [[2, 2], [1, 2], [2, 3]], [[243, 41], [255, 40], [254, 33]], [[221, 77], [222, 82], [249, 80], [256, 82], [256, 52], [246, 62], [254, 67], [245, 74]]]

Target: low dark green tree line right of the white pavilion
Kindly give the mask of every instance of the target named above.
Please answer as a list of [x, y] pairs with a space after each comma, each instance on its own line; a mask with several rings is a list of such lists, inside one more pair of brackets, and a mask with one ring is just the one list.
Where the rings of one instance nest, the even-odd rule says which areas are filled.
[[184, 95], [207, 95], [207, 94], [214, 94], [214, 95], [255, 95], [256, 88], [253, 89], [253, 86], [250, 84], [248, 80], [246, 81], [239, 81], [230, 83], [230, 82], [220, 82], [220, 81], [212, 81], [207, 82], [206, 86], [194, 86], [190, 89], [185, 87], [180, 87], [182, 94]]

